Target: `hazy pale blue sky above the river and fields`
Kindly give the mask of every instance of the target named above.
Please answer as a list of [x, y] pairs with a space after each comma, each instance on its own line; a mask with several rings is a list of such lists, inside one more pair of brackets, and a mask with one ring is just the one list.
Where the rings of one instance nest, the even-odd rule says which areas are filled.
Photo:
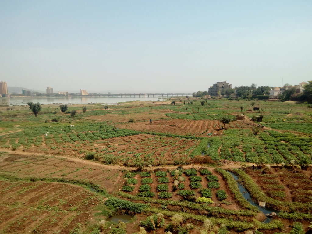
[[312, 80], [312, 1], [0, 1], [0, 80], [193, 92]]

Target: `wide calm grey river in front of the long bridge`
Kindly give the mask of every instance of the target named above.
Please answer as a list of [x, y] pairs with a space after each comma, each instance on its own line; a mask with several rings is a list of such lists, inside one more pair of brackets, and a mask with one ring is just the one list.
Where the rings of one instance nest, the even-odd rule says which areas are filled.
[[[168, 97], [170, 98], [170, 97]], [[0, 105], [27, 105], [27, 102], [39, 102], [40, 104], [90, 104], [105, 103], [115, 104], [128, 101], [158, 101], [163, 100], [162, 97], [151, 97], [141, 95], [136, 97], [12, 97], [0, 98]]]

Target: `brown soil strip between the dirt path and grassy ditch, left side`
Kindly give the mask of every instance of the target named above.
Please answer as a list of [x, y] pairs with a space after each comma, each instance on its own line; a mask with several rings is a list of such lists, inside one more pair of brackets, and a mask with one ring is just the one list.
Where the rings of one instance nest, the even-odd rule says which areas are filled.
[[0, 156], [0, 172], [21, 178], [65, 178], [88, 181], [108, 192], [115, 190], [120, 171], [87, 163], [51, 156], [23, 156], [11, 154]]

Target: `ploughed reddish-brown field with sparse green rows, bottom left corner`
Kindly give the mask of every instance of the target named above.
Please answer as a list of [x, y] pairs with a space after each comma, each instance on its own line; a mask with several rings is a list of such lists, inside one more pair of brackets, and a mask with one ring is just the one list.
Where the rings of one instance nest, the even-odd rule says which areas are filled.
[[93, 216], [92, 192], [65, 183], [0, 181], [0, 233], [69, 233]]

